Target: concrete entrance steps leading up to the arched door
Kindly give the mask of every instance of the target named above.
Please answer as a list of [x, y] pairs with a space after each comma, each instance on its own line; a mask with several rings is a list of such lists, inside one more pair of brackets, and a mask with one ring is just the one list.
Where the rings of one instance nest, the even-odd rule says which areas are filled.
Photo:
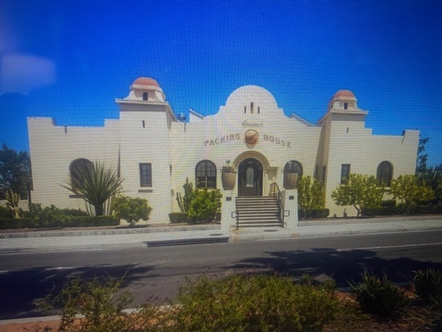
[[238, 227], [282, 227], [276, 197], [249, 196], [236, 198]]

